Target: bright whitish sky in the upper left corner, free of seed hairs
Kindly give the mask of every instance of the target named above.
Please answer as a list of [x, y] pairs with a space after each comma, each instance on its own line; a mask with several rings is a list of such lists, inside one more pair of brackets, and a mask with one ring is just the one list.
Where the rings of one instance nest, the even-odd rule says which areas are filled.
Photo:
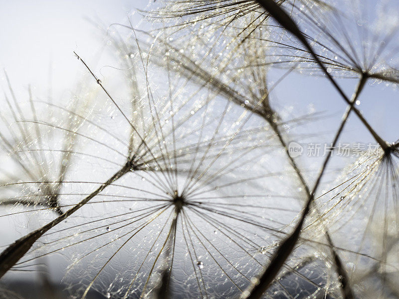
[[148, 3], [147, 0], [0, 2], [0, 67], [6, 69], [14, 88], [32, 84], [38, 91], [47, 88], [50, 63], [55, 91], [73, 88], [81, 67], [73, 51], [87, 57], [103, 47], [104, 38], [88, 19], [104, 24], [126, 23], [135, 7], [143, 8]]

